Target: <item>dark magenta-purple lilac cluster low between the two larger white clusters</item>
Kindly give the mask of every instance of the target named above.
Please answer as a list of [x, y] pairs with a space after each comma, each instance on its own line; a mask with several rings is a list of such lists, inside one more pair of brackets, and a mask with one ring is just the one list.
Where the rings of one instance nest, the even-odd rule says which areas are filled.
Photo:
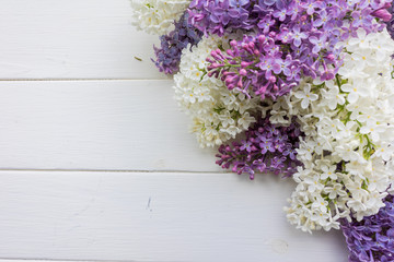
[[241, 143], [221, 145], [217, 164], [239, 175], [248, 174], [251, 179], [256, 171], [291, 176], [300, 165], [296, 158], [300, 134], [296, 122], [279, 127], [269, 118], [262, 119], [245, 132]]

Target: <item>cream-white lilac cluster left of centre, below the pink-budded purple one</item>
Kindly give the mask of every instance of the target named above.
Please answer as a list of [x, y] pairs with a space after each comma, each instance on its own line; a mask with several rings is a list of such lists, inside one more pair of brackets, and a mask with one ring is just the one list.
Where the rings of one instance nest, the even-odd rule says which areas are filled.
[[[229, 38], [229, 37], [227, 37]], [[221, 80], [207, 75], [206, 58], [222, 45], [219, 37], [202, 38], [183, 50], [179, 72], [174, 75], [175, 99], [193, 119], [192, 132], [200, 146], [215, 146], [235, 138], [255, 122], [259, 98], [248, 99], [229, 91]]]

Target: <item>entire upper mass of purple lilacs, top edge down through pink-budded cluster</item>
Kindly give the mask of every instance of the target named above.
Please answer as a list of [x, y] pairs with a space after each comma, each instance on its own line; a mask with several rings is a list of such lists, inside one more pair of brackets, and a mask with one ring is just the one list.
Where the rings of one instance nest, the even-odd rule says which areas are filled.
[[[385, 9], [391, 0], [237, 2], [229, 1], [225, 5], [228, 15], [223, 20], [221, 15], [224, 13], [218, 11], [218, 1], [194, 0], [189, 21], [206, 34], [219, 35], [255, 24], [258, 32], [255, 36], [232, 41], [225, 52], [212, 51], [208, 69], [211, 75], [221, 78], [230, 90], [239, 88], [250, 96], [275, 99], [290, 92], [302, 76], [318, 76], [322, 81], [333, 79], [341, 64], [341, 49], [336, 44], [346, 40], [360, 27], [367, 32], [382, 28], [383, 25], [373, 23], [373, 20], [386, 19]], [[237, 16], [235, 19], [233, 10], [246, 12], [247, 22], [241, 23]]]

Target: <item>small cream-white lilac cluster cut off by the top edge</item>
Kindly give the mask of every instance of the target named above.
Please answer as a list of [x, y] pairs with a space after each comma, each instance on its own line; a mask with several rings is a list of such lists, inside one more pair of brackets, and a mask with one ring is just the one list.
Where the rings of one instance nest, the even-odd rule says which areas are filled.
[[132, 24], [150, 34], [167, 34], [189, 3], [189, 0], [131, 0]]

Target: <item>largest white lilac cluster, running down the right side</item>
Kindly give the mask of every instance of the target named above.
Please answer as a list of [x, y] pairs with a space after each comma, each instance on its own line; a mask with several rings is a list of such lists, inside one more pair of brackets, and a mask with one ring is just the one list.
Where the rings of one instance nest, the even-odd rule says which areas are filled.
[[297, 156], [303, 167], [286, 207], [289, 222], [305, 231], [376, 214], [394, 181], [394, 41], [386, 31], [357, 33], [344, 44], [338, 78], [302, 82], [286, 98], [287, 116], [273, 118], [297, 117], [305, 133]]

